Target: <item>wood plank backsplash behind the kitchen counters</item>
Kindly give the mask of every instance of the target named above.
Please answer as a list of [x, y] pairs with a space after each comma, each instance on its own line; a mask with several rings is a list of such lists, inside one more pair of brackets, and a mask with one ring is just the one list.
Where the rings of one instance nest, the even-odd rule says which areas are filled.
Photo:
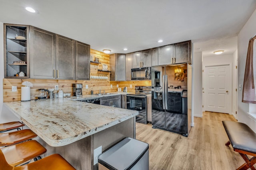
[[[94, 49], [90, 50], [91, 57], [97, 57], [100, 60], [100, 64], [91, 63], [90, 65], [90, 75], [107, 76], [108, 79], [90, 79], [90, 80], [61, 80], [61, 79], [3, 79], [3, 97], [4, 102], [10, 101], [20, 101], [21, 100], [21, 87], [22, 82], [30, 81], [33, 83], [33, 87], [30, 89], [30, 98], [36, 99], [39, 95], [38, 89], [49, 89], [54, 88], [58, 85], [59, 89], [62, 89], [64, 93], [72, 93], [72, 83], [83, 84], [82, 93], [83, 95], [90, 94], [93, 90], [94, 93], [99, 93], [99, 90], [105, 90], [106, 93], [116, 92], [117, 87], [123, 88], [128, 87], [128, 92], [134, 92], [134, 87], [136, 85], [150, 86], [151, 81], [110, 81], [109, 73], [100, 72], [98, 69], [102, 69], [102, 64], [110, 65], [110, 55], [96, 51]], [[112, 88], [110, 87], [112, 85]], [[88, 85], [88, 89], [86, 89]], [[132, 85], [132, 88], [130, 88]], [[12, 92], [12, 86], [17, 86], [17, 92]]]

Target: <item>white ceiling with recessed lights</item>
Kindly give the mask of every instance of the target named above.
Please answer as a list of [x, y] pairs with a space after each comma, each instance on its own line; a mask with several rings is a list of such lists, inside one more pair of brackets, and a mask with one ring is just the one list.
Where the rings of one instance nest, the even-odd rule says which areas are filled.
[[192, 40], [206, 56], [234, 53], [255, 9], [256, 0], [0, 0], [0, 22], [32, 25], [111, 53]]

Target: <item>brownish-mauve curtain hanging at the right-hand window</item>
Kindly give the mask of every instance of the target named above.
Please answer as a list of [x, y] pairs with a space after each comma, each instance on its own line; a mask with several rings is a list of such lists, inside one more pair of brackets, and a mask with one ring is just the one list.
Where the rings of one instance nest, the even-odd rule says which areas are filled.
[[[242, 102], [256, 104], [256, 36], [250, 39], [244, 71]], [[255, 49], [255, 50], [253, 50]], [[253, 59], [254, 58], [254, 59]]]

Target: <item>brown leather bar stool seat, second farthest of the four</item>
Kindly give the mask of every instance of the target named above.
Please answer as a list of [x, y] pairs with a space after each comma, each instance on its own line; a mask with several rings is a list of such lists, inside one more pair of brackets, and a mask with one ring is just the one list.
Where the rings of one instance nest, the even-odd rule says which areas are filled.
[[0, 133], [0, 146], [10, 146], [35, 138], [36, 136], [37, 134], [35, 134], [30, 129], [18, 130], [8, 133]]

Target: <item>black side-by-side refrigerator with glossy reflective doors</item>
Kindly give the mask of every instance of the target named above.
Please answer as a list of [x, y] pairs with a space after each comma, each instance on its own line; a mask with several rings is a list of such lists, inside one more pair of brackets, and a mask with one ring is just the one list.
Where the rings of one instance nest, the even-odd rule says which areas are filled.
[[192, 67], [151, 67], [152, 127], [188, 136], [191, 129]]

